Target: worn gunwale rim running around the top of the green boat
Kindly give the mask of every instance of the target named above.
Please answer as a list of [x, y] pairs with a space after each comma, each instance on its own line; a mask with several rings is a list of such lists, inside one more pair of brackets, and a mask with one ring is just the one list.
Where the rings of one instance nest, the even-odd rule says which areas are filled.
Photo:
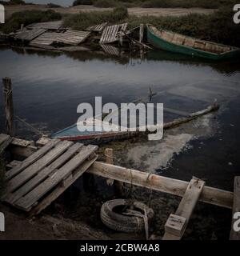
[[[185, 34], [179, 34], [179, 35], [184, 36], [185, 38], [190, 38], [192, 40], [198, 40], [200, 42], [207, 42], [207, 43], [210, 43], [210, 44], [214, 44], [216, 46], [230, 47], [231, 50], [224, 51], [224, 52], [218, 54], [218, 53], [214, 53], [214, 52], [211, 52], [211, 51], [194, 48], [194, 47], [191, 47], [191, 46], [185, 46], [185, 45], [179, 44], [177, 42], [170, 42], [170, 41], [167, 41], [165, 38], [159, 37], [158, 34], [155, 34], [151, 27], [154, 27], [158, 30], [158, 28], [156, 26], [154, 26], [152, 24], [146, 24], [146, 28], [150, 32], [150, 34], [152, 34], [155, 38], [158, 38], [158, 39], [162, 40], [163, 42], [166, 42], [167, 44], [170, 44], [171, 46], [179, 46], [179, 47], [185, 48], [186, 50], [194, 50], [194, 51], [198, 51], [199, 53], [210, 54], [210, 55], [215, 56], [215, 57], [224, 56], [226, 54], [230, 54], [230, 53], [234, 53], [236, 51], [240, 51], [240, 49], [238, 47], [235, 47], [235, 46], [224, 45], [224, 44], [221, 44], [221, 43], [206, 41], [206, 40], [202, 40], [202, 39], [199, 39], [199, 38], [192, 38], [192, 37], [187, 36]], [[158, 30], [158, 31], [161, 32], [161, 30]], [[164, 30], [164, 31], [172, 33], [172, 34], [178, 34], [178, 33], [174, 32], [174, 31], [171, 31], [171, 30]]]

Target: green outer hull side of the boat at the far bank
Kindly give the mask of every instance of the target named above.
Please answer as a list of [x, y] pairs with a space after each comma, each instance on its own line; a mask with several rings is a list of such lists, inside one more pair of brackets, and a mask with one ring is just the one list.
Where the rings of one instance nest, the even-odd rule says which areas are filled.
[[212, 60], [221, 60], [227, 58], [235, 58], [240, 54], [238, 50], [232, 50], [230, 52], [226, 52], [224, 54], [212, 54], [210, 52], [206, 52], [204, 50], [198, 50], [190, 46], [181, 46], [178, 44], [174, 44], [172, 42], [167, 42], [165, 39], [158, 37], [158, 35], [154, 34], [154, 32], [150, 29], [150, 26], [146, 27], [147, 30], [147, 40], [154, 47], [167, 50], [170, 52], [178, 53], [178, 54], [187, 54], [193, 57], [199, 58], [208, 58]]

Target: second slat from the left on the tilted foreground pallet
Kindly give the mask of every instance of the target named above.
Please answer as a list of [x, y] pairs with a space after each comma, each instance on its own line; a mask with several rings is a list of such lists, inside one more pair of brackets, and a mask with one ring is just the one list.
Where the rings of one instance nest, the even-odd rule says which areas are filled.
[[42, 170], [43, 168], [48, 166], [64, 151], [66, 151], [72, 144], [73, 142], [69, 141], [58, 142], [58, 144], [52, 150], [46, 153], [37, 162], [34, 162], [31, 166], [28, 166], [25, 170], [22, 170], [22, 172], [19, 173], [17, 176], [11, 178], [6, 184], [6, 190], [4, 193], [5, 195], [3, 196], [3, 198], [5, 199], [7, 194], [18, 189], [19, 186], [22, 186], [22, 184], [27, 182], [30, 178], [34, 177], [35, 174], [38, 174], [39, 170]]

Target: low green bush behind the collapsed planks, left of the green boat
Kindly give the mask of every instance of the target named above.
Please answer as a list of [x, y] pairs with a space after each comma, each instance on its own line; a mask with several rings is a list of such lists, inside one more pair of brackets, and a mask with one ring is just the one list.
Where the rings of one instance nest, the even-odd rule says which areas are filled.
[[112, 11], [99, 11], [70, 15], [65, 18], [64, 26], [70, 26], [75, 30], [83, 30], [88, 26], [102, 22], [118, 23], [128, 17], [125, 7], [116, 7]]

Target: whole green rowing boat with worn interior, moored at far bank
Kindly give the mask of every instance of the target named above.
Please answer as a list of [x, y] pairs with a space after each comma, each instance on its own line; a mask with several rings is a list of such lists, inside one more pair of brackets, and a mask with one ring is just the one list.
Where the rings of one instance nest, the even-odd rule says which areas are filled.
[[213, 60], [234, 58], [240, 54], [237, 47], [190, 38], [168, 30], [158, 30], [155, 26], [146, 25], [146, 30], [148, 42], [162, 50]]

